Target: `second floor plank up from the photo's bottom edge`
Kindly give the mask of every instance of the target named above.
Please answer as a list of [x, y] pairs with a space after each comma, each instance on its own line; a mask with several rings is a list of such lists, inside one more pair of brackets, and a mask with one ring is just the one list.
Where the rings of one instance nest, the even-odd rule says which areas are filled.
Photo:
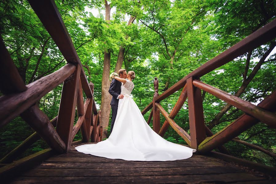
[[[153, 173], [154, 172], [154, 173]], [[222, 173], [239, 173], [241, 169], [230, 166], [216, 167], [172, 167], [172, 168], [110, 168], [110, 169], [49, 169], [34, 168], [30, 171], [22, 173], [22, 176], [43, 176], [43, 177], [81, 177], [81, 176], [148, 176], [148, 175], [184, 175], [184, 174], [222, 174]]]

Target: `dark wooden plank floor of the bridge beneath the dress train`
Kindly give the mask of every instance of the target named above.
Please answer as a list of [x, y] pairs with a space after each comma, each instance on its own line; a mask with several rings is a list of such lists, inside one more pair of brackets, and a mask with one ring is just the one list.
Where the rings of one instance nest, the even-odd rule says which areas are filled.
[[[76, 146], [74, 146], [76, 147]], [[55, 155], [10, 183], [273, 183], [213, 157], [144, 162], [87, 155], [74, 148]]]

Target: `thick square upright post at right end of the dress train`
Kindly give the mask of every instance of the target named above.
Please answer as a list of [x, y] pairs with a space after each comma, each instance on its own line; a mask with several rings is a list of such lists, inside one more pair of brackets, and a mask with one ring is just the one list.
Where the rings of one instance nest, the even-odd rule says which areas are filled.
[[205, 139], [205, 124], [203, 117], [203, 105], [201, 90], [192, 84], [192, 77], [187, 79], [187, 94], [189, 106], [189, 122], [191, 148], [197, 149], [198, 145]]

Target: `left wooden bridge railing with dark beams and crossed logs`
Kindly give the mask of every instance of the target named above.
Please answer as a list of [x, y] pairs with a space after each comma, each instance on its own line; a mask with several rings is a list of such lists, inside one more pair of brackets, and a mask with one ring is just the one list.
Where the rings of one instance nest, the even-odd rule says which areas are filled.
[[[42, 137], [54, 152], [68, 152], [77, 132], [81, 130], [82, 142], [102, 140], [101, 113], [93, 98], [94, 85], [88, 83], [86, 74], [62, 21], [54, 1], [29, 0], [33, 10], [52, 36], [60, 52], [68, 62], [56, 72], [25, 86], [17, 68], [0, 38], [1, 83], [0, 126], [21, 116], [36, 132], [11, 151], [1, 163], [13, 161], [31, 144]], [[36, 102], [63, 82], [57, 117], [51, 121]], [[84, 102], [83, 91], [87, 97]], [[78, 121], [74, 126], [77, 106]], [[56, 127], [56, 128], [55, 128]]]

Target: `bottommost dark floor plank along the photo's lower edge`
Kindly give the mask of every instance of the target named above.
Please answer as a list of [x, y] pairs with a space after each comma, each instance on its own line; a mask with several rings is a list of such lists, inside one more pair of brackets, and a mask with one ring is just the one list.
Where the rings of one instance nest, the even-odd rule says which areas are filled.
[[[264, 182], [264, 177], [257, 177], [247, 173], [226, 174], [196, 174], [196, 175], [163, 175], [163, 176], [95, 176], [95, 177], [19, 177], [13, 184], [25, 183], [225, 183], [238, 181]], [[265, 183], [266, 184], [266, 183]]]

